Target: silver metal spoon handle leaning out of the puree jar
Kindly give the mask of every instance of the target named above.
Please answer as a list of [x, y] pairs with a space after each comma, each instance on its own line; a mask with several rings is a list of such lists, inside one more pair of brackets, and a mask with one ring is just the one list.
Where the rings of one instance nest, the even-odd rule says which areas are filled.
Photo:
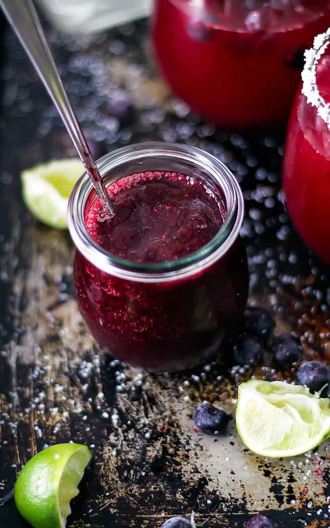
[[112, 218], [114, 206], [64, 90], [32, 0], [0, 0], [0, 6], [58, 109], [103, 208]]

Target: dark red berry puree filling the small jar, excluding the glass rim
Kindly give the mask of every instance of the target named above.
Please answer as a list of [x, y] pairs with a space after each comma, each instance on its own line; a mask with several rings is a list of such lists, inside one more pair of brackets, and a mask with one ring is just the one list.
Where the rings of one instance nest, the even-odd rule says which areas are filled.
[[206, 268], [197, 260], [187, 276], [166, 279], [157, 267], [184, 266], [196, 252], [203, 257], [225, 221], [222, 193], [196, 177], [164, 171], [124, 176], [108, 192], [116, 215], [107, 218], [99, 199], [87, 201], [87, 232], [110, 256], [147, 274], [117, 277], [77, 251], [77, 300], [93, 336], [111, 355], [152, 371], [183, 369], [218, 351], [225, 328], [237, 323], [246, 304], [240, 239]]

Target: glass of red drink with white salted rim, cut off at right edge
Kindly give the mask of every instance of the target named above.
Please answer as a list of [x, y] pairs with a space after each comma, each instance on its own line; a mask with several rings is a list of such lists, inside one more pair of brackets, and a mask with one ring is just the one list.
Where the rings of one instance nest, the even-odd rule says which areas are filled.
[[330, 30], [306, 53], [291, 111], [282, 169], [286, 206], [295, 228], [330, 263]]

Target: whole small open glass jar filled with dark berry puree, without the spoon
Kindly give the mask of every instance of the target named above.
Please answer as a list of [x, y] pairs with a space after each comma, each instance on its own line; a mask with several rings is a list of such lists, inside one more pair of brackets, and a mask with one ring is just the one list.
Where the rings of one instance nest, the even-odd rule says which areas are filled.
[[152, 371], [183, 369], [219, 350], [248, 293], [238, 184], [215, 158], [141, 144], [101, 159], [116, 215], [86, 176], [73, 190], [80, 312], [106, 350]]

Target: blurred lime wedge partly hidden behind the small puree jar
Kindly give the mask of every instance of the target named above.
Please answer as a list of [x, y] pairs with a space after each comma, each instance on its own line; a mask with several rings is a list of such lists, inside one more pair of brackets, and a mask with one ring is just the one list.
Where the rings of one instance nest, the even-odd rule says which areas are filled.
[[76, 158], [52, 161], [23, 171], [25, 205], [41, 222], [53, 228], [67, 228], [68, 199], [83, 171], [81, 161]]

